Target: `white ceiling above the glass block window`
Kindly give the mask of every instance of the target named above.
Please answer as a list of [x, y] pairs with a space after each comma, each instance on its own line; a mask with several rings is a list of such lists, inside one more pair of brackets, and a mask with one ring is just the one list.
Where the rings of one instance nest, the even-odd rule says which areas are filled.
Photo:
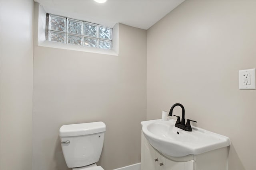
[[113, 27], [123, 23], [148, 29], [184, 0], [34, 0], [47, 13]]

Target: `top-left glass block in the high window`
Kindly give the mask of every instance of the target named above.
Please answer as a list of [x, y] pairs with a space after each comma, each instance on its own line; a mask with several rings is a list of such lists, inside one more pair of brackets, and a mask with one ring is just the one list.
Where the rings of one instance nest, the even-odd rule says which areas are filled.
[[66, 32], [66, 18], [49, 15], [49, 29]]

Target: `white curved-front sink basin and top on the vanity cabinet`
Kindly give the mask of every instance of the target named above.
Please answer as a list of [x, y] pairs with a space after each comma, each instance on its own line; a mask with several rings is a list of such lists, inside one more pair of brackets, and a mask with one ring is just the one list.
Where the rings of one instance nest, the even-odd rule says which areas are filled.
[[175, 127], [176, 121], [142, 121], [142, 132], [150, 145], [166, 156], [198, 155], [230, 145], [228, 137], [193, 127], [192, 132]]

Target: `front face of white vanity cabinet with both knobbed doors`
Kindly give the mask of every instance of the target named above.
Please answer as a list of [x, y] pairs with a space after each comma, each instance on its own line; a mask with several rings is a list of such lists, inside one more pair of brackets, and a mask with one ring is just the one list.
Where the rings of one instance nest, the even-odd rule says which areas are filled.
[[156, 151], [142, 133], [141, 170], [195, 170], [195, 161], [177, 162]]

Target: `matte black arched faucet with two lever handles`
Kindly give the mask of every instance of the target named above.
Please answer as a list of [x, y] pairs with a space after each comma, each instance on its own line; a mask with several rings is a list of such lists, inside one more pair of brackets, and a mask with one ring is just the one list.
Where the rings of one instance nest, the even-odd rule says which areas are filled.
[[[174, 107], [176, 107], [176, 106], [180, 106], [182, 108], [182, 119], [181, 119], [181, 122], [180, 122], [180, 116], [174, 115], [174, 116], [178, 117], [177, 121], [175, 123], [175, 127], [178, 127], [178, 128], [183, 129], [185, 131], [190, 131], [191, 132], [192, 128], [191, 128], [191, 125], [190, 125], [190, 121], [194, 121], [194, 120], [187, 119], [187, 123], [185, 125], [185, 109], [184, 109], [184, 106], [182, 106], [182, 104], [176, 103], [176, 104], [172, 105], [172, 107], [170, 109], [170, 112], [169, 112], [169, 116], [172, 116], [172, 111], [173, 111]], [[196, 121], [194, 121], [194, 122], [196, 122]]]

